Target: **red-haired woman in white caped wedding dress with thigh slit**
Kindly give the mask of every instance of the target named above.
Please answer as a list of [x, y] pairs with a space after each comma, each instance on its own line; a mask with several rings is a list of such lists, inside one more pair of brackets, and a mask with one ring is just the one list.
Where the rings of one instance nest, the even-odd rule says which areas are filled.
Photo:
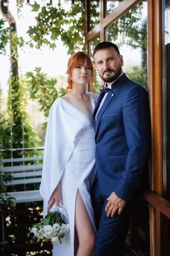
[[[70, 223], [70, 233], [62, 243], [54, 243], [53, 256], [92, 256], [96, 241], [94, 211], [90, 189], [96, 174], [92, 112], [98, 96], [94, 94], [94, 69], [84, 52], [68, 61], [66, 94], [50, 109], [44, 147], [40, 193], [44, 215], [59, 198]], [[93, 92], [86, 92], [91, 81]], [[67, 218], [63, 220], [67, 222]]]

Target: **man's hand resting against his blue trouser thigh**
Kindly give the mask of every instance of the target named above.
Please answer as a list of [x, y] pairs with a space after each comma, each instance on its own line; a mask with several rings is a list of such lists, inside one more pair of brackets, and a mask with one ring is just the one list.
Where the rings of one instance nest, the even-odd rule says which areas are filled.
[[115, 194], [115, 192], [111, 193], [111, 195], [107, 198], [107, 201], [108, 203], [105, 207], [105, 211], [107, 212], [107, 217], [109, 216], [113, 217], [117, 210], [118, 210], [118, 214], [120, 215], [126, 204], [126, 201], [119, 198]]

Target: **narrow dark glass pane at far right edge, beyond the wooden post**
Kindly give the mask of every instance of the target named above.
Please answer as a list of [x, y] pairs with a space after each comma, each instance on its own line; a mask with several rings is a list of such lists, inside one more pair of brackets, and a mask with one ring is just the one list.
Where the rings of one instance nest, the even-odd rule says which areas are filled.
[[[163, 168], [163, 192], [167, 200], [170, 201], [170, 0], [165, 1], [163, 10], [164, 18], [164, 38], [163, 38], [163, 91], [166, 96], [166, 109], [164, 108], [164, 117], [166, 121], [166, 133], [164, 144], [166, 147], [166, 168]], [[165, 99], [165, 98], [164, 98]], [[164, 102], [163, 102], [164, 103]]]

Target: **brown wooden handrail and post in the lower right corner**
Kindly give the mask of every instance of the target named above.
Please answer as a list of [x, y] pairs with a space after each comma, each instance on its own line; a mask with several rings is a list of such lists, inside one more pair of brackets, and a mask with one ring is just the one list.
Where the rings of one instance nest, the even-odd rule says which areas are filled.
[[[148, 202], [149, 224], [150, 224], [150, 245], [153, 251], [150, 256], [169, 256], [170, 236], [170, 202], [150, 190], [144, 191], [143, 199]], [[138, 225], [137, 204], [131, 216], [129, 236], [126, 238], [126, 248], [131, 256], [145, 256], [139, 249], [139, 236], [141, 234]]]

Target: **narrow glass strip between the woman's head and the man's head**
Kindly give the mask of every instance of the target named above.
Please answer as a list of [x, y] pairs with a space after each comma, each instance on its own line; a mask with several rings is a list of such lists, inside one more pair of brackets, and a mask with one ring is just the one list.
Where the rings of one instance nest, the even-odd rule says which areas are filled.
[[[93, 49], [98, 43], [100, 43], [100, 35], [97, 35], [95, 38], [89, 41], [89, 51], [90, 51], [89, 55], [92, 58], [92, 61], [93, 61]], [[96, 90], [96, 94], [100, 94], [100, 84], [101, 84], [100, 76], [96, 68], [94, 67], [94, 84], [93, 85]]]

